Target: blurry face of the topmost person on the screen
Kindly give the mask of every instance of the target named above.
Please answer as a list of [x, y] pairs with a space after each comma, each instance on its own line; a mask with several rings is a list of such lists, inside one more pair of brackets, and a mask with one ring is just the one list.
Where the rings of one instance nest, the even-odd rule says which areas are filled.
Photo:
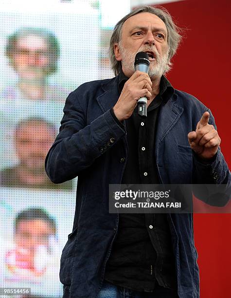
[[18, 38], [12, 62], [23, 80], [41, 80], [49, 66], [48, 46], [43, 37], [28, 35]]

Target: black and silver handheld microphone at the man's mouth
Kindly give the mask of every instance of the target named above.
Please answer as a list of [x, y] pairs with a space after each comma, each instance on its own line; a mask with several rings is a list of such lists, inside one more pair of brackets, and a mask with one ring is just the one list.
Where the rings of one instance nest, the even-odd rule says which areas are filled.
[[[147, 53], [139, 52], [136, 54], [135, 62], [134, 62], [135, 71], [139, 70], [147, 74], [149, 70], [149, 65], [150, 65], [150, 61]], [[138, 100], [137, 106], [138, 106], [138, 114], [143, 117], [147, 117], [147, 97], [145, 96], [141, 97]]]

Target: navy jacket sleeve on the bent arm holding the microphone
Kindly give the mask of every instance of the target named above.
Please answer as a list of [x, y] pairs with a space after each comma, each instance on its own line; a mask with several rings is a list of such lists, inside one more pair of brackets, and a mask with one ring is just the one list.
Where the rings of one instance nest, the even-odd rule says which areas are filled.
[[45, 160], [46, 173], [53, 183], [77, 177], [125, 135], [109, 110], [86, 125], [87, 115], [76, 91], [69, 94], [63, 112], [59, 133]]

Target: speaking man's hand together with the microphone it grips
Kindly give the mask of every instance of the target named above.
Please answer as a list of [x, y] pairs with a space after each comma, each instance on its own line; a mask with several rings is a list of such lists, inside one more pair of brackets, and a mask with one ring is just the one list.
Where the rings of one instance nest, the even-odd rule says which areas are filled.
[[[115, 116], [120, 121], [128, 119], [131, 116], [138, 104], [139, 99], [141, 99], [140, 104], [145, 105], [145, 99], [150, 100], [152, 96], [152, 82], [147, 74], [149, 68], [149, 65], [147, 67], [147, 63], [149, 63], [147, 53], [137, 53], [135, 57], [136, 71], [124, 84], [121, 95], [113, 108]], [[142, 108], [142, 111], [145, 112], [145, 106]]]

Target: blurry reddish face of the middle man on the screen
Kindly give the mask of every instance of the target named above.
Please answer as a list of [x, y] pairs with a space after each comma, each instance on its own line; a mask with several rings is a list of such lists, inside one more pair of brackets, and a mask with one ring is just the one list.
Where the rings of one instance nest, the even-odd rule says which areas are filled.
[[24, 124], [15, 136], [20, 166], [32, 175], [44, 173], [44, 161], [54, 141], [54, 132], [45, 123]]

